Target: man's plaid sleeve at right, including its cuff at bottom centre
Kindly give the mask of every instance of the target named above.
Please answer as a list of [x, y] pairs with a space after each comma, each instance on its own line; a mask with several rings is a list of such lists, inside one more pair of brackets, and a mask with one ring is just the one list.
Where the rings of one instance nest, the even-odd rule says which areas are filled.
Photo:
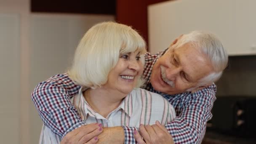
[[[206, 123], [211, 119], [211, 109], [216, 100], [216, 85], [213, 84], [203, 90], [190, 93], [181, 99], [182, 108], [179, 115], [165, 128], [173, 137], [175, 144], [200, 144], [205, 134]], [[168, 100], [168, 99], [167, 99]], [[173, 103], [173, 101], [170, 101]], [[175, 103], [175, 102], [174, 102]], [[136, 143], [133, 137], [135, 128], [123, 126], [125, 144]]]

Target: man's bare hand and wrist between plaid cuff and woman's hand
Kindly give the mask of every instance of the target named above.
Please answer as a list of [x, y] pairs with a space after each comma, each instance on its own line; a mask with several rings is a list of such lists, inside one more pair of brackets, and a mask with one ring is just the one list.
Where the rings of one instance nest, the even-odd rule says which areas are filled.
[[121, 126], [103, 128], [99, 135], [99, 144], [123, 144], [125, 140], [124, 130]]

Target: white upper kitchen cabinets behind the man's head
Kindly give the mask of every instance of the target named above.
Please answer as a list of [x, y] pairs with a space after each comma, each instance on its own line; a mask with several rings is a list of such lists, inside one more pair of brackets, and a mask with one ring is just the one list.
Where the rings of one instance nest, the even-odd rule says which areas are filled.
[[149, 50], [193, 30], [215, 34], [228, 54], [256, 54], [256, 0], [172, 0], [149, 5]]

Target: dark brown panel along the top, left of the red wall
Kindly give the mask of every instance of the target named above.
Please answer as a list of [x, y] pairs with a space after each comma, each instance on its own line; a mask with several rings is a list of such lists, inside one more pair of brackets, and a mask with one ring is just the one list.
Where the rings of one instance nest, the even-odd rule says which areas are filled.
[[116, 13], [116, 0], [30, 0], [32, 12]]

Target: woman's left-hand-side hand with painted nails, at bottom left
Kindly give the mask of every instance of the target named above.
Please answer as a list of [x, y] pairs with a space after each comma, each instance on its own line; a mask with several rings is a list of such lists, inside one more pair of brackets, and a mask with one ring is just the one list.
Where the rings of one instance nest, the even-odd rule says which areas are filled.
[[102, 125], [98, 123], [83, 125], [67, 133], [62, 139], [61, 144], [96, 144], [99, 140], [98, 136], [102, 131]]

